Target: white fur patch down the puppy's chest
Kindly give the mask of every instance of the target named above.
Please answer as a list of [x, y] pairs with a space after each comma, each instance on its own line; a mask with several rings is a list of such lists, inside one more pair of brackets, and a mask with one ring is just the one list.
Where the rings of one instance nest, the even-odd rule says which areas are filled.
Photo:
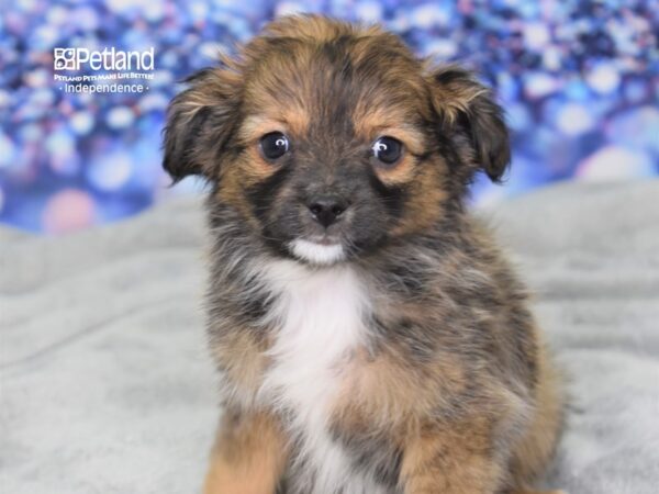
[[346, 266], [311, 270], [288, 260], [272, 261], [266, 278], [277, 295], [269, 319], [278, 333], [260, 397], [292, 415], [299, 460], [304, 470], [315, 471], [314, 489], [305, 492], [328, 494], [339, 485], [354, 494], [378, 492], [366, 479], [354, 478], [348, 458], [327, 431], [344, 363], [366, 338], [364, 284]]

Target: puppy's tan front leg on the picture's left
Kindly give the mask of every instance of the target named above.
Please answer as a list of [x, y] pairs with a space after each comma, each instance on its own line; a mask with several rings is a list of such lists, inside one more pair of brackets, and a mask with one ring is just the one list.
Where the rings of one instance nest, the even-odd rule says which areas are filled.
[[211, 454], [204, 494], [275, 494], [287, 450], [276, 417], [264, 412], [225, 412]]

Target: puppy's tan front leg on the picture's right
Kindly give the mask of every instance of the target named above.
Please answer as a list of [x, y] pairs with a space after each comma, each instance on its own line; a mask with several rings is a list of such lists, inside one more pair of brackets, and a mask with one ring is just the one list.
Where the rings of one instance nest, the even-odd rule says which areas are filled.
[[405, 494], [493, 494], [504, 470], [491, 457], [489, 427], [463, 424], [423, 428], [403, 453], [400, 484]]

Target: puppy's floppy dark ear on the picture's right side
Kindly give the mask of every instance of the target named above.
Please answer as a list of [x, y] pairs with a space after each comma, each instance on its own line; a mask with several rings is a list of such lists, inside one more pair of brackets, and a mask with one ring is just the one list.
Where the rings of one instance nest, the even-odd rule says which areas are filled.
[[460, 67], [447, 66], [432, 76], [433, 103], [443, 124], [461, 127], [473, 151], [472, 164], [494, 182], [501, 181], [511, 161], [503, 110], [491, 91]]

